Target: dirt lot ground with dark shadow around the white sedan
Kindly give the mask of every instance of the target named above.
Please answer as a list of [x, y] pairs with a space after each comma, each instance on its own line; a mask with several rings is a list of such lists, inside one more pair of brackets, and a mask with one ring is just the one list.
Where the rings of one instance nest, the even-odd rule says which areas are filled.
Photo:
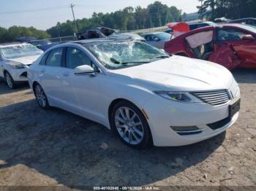
[[233, 71], [238, 122], [186, 147], [130, 149], [95, 122], [43, 111], [0, 82], [0, 185], [256, 185], [256, 70]]

